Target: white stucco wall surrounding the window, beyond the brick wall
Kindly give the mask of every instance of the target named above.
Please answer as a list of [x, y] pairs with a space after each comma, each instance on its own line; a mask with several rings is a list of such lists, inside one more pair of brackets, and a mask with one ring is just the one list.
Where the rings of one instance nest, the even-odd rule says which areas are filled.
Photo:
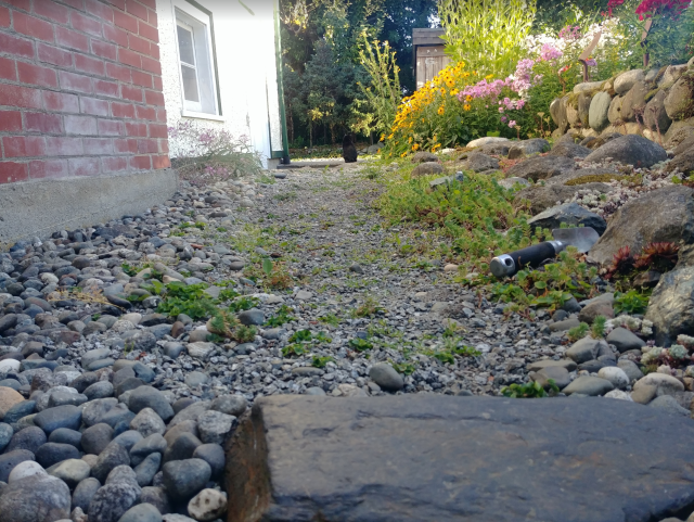
[[[275, 0], [245, 0], [252, 15], [237, 0], [197, 0], [211, 12], [215, 28], [219, 98], [223, 122], [194, 118], [202, 126], [226, 127], [234, 136], [246, 135], [267, 163], [271, 151], [282, 150], [274, 14]], [[167, 124], [183, 118], [182, 88], [171, 0], [157, 0], [159, 49]], [[177, 157], [175, 139], [170, 156]]]

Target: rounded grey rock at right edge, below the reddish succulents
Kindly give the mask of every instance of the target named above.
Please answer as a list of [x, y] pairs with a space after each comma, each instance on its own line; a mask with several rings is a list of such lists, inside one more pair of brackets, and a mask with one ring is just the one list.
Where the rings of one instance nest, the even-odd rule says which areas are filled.
[[658, 345], [669, 345], [681, 333], [694, 334], [694, 267], [660, 277], [651, 295], [646, 319], [653, 321]]

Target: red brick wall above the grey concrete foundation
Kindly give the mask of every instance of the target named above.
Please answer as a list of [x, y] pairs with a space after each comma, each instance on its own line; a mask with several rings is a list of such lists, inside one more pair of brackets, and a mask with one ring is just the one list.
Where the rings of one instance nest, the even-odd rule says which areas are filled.
[[0, 0], [0, 183], [168, 166], [155, 0]]

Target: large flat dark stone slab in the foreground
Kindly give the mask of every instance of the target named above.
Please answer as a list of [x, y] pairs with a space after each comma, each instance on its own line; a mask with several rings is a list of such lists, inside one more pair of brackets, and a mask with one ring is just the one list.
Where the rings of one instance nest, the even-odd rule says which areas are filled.
[[227, 462], [230, 522], [646, 522], [694, 505], [694, 422], [597, 397], [273, 396]]

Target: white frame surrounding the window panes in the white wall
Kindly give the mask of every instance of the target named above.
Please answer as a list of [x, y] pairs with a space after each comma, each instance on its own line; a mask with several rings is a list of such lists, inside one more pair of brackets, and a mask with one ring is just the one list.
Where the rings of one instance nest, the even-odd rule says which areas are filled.
[[[220, 111], [217, 96], [217, 77], [214, 67], [214, 42], [210, 30], [210, 17], [207, 13], [204, 13], [185, 0], [172, 0], [171, 4], [175, 22], [174, 37], [176, 40], [176, 56], [178, 59], [178, 76], [181, 86], [181, 102], [183, 104], [181, 116], [223, 122], [226, 118], [219, 114]], [[193, 29], [193, 44], [196, 62], [195, 69], [200, 102], [185, 100], [183, 74], [181, 72], [182, 61], [178, 41], [179, 25], [188, 30]], [[201, 40], [204, 40], [204, 42], [201, 43]], [[202, 85], [204, 84], [204, 81], [201, 81], [202, 75], [206, 76], [204, 79], [208, 85], [207, 88]]]

